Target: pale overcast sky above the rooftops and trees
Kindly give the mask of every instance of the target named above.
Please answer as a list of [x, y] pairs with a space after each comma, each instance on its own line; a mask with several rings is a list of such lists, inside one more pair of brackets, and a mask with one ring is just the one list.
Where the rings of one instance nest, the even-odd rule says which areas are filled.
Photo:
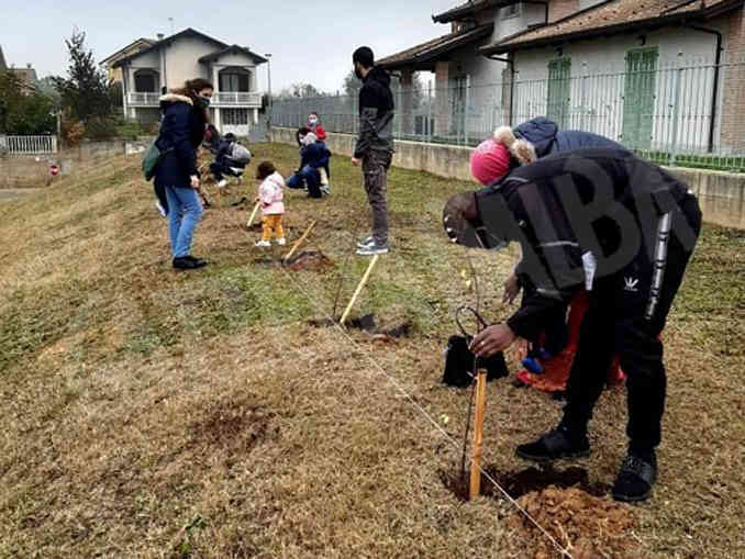
[[[73, 27], [87, 33], [101, 60], [134, 38], [193, 27], [224, 43], [273, 53], [275, 91], [309, 82], [335, 91], [363, 44], [383, 57], [449, 32], [432, 14], [460, 0], [233, 0], [143, 1], [33, 0], [3, 10], [0, 46], [8, 65], [31, 63], [40, 77], [67, 69], [64, 38]], [[266, 88], [266, 65], [259, 70]]]

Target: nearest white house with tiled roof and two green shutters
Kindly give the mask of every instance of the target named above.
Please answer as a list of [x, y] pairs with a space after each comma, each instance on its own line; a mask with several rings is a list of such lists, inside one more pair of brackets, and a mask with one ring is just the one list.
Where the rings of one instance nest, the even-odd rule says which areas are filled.
[[635, 149], [732, 154], [745, 147], [743, 3], [596, 2], [480, 53], [513, 65], [514, 123], [548, 115]]

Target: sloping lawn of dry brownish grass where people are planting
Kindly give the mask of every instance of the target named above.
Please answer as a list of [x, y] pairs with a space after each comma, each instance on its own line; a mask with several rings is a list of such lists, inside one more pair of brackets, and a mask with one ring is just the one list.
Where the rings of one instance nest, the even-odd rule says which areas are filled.
[[[297, 165], [291, 146], [254, 150], [255, 163], [271, 159], [283, 174]], [[197, 234], [194, 253], [211, 266], [174, 272], [137, 158], [2, 202], [0, 557], [558, 555], [508, 501], [463, 503], [445, 487], [459, 450], [423, 413], [462, 438], [468, 393], [440, 377], [453, 311], [475, 295], [440, 212], [467, 186], [391, 171], [394, 250], [355, 313], [411, 321], [412, 334], [345, 337], [308, 324], [341, 312], [367, 264], [348, 256], [367, 233], [359, 171], [341, 157], [333, 167], [331, 199], [287, 195], [290, 239], [319, 221], [308, 246], [334, 262], [325, 271], [273, 265], [245, 231], [248, 211], [224, 203]], [[252, 198], [248, 183], [224, 202]], [[597, 525], [581, 534], [568, 527], [581, 511], [567, 513], [575, 505], [554, 490], [521, 501], [575, 557], [742, 556], [744, 249], [745, 233], [705, 227], [665, 332], [669, 399], [654, 499], [615, 507], [601, 497], [587, 505]], [[510, 313], [499, 301], [515, 256], [472, 258], [492, 320]], [[545, 394], [490, 384], [489, 470], [525, 469], [514, 446], [559, 414]], [[594, 454], [575, 465], [591, 483], [612, 482], [625, 416], [623, 391], [605, 393]]]

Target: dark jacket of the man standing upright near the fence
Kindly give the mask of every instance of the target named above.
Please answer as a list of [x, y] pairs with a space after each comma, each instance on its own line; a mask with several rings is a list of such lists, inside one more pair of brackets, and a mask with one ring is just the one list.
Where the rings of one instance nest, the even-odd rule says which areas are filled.
[[382, 68], [372, 67], [359, 90], [359, 137], [355, 157], [362, 159], [367, 152], [393, 150], [393, 93], [390, 76]]

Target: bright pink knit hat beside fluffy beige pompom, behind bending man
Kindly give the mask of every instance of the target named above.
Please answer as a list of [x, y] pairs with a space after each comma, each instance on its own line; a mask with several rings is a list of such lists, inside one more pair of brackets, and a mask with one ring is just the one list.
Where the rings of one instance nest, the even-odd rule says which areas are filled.
[[524, 139], [515, 138], [512, 128], [502, 126], [471, 154], [470, 172], [481, 185], [493, 185], [510, 172], [513, 158], [520, 165], [535, 161], [535, 149]]

